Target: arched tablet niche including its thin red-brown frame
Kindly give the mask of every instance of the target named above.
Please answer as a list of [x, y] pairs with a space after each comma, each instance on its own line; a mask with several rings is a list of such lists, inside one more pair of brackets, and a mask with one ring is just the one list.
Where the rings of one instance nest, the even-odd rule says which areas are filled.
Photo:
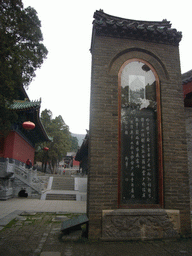
[[163, 206], [160, 82], [139, 58], [118, 72], [119, 207]]

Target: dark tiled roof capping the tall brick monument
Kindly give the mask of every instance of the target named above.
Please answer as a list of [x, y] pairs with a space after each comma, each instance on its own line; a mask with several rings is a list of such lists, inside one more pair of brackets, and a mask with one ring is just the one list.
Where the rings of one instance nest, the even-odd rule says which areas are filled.
[[140, 21], [108, 15], [102, 10], [94, 13], [93, 28], [96, 35], [131, 38], [142, 41], [178, 45], [182, 33], [171, 28], [167, 20]]

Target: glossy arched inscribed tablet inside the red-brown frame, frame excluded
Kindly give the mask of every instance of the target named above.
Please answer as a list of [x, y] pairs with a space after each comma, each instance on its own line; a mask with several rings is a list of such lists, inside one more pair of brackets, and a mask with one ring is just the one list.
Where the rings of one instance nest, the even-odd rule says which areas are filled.
[[157, 203], [156, 87], [142, 62], [121, 75], [121, 201]]

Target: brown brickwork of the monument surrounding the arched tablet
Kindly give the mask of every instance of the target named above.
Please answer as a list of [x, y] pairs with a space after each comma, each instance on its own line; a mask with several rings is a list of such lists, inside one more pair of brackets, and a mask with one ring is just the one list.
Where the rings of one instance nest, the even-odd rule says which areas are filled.
[[95, 36], [90, 104], [89, 237], [101, 237], [102, 210], [118, 208], [118, 72], [122, 64], [131, 58], [147, 61], [159, 76], [164, 207], [181, 211], [181, 230], [188, 234], [189, 180], [178, 47]]

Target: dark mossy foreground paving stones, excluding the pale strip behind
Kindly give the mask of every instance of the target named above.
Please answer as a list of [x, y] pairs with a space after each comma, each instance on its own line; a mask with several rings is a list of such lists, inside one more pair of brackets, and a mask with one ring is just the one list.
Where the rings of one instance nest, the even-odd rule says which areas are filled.
[[82, 231], [64, 235], [61, 223], [77, 213], [17, 211], [13, 216], [0, 231], [1, 256], [192, 255], [192, 239], [101, 242], [81, 238]]

